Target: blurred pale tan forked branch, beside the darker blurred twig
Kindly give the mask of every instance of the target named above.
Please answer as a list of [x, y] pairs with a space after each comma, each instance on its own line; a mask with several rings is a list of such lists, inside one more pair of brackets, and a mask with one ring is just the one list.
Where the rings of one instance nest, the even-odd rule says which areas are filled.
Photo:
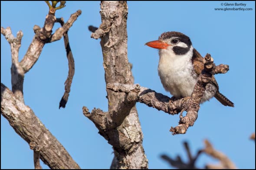
[[215, 150], [207, 139], [204, 140], [204, 144], [205, 148], [202, 151], [209, 156], [220, 160], [220, 165], [208, 164], [206, 165], [207, 169], [237, 169], [236, 165], [230, 161], [230, 159], [225, 154]]

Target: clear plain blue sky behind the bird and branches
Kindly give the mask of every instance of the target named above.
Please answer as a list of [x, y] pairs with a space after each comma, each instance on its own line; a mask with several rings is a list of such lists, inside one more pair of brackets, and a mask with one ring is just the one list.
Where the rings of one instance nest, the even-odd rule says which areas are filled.
[[[99, 40], [90, 38], [89, 25], [101, 23], [99, 1], [67, 2], [56, 12], [65, 21], [81, 9], [82, 15], [69, 30], [75, 59], [75, 75], [69, 101], [59, 110], [68, 75], [64, 42], [46, 44], [37, 63], [25, 75], [24, 100], [69, 154], [86, 169], [108, 169], [112, 147], [98, 134], [94, 124], [82, 114], [82, 106], [108, 110], [102, 50]], [[238, 168], [255, 169], [255, 2], [243, 1], [253, 11], [216, 11], [224, 1], [213, 2], [128, 2], [128, 59], [133, 64], [135, 83], [170, 96], [158, 77], [158, 50], [144, 46], [164, 31], [179, 31], [189, 36], [204, 56], [210, 53], [216, 64], [228, 64], [230, 71], [216, 75], [220, 92], [235, 104], [224, 107], [216, 99], [201, 105], [197, 121], [184, 135], [171, 135], [169, 129], [179, 117], [137, 103], [144, 135], [143, 146], [150, 169], [171, 168], [161, 154], [181, 155], [187, 160], [182, 142], [188, 141], [192, 153], [203, 147], [203, 139], [226, 154]], [[228, 1], [240, 3], [240, 1]], [[33, 26], [44, 24], [45, 2], [1, 1], [1, 26], [10, 26], [13, 34], [23, 31], [20, 60], [34, 36]], [[54, 30], [59, 28], [56, 24]], [[11, 88], [10, 45], [1, 35], [1, 82]], [[99, 161], [100, 160], [100, 161]], [[217, 163], [201, 155], [197, 166]], [[42, 163], [44, 169], [48, 168]], [[33, 151], [1, 116], [1, 169], [33, 169]]]

